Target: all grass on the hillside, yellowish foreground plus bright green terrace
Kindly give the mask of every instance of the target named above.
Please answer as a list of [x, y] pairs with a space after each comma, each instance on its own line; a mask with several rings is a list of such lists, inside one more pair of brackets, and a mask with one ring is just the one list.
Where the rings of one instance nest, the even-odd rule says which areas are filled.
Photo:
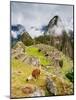
[[[26, 51], [28, 56], [34, 56], [37, 57], [40, 60], [40, 64], [46, 66], [48, 64], [52, 64], [51, 61], [48, 61], [48, 59], [46, 59], [44, 53], [42, 52], [38, 52], [38, 48], [34, 47], [34, 46], [29, 46], [26, 47]], [[58, 95], [64, 95], [64, 86], [66, 87], [66, 91], [67, 93], [70, 94], [70, 82], [69, 80], [65, 77], [65, 79], [63, 78], [65, 76], [65, 74], [67, 72], [69, 72], [73, 66], [73, 62], [66, 57], [63, 53], [61, 53], [61, 59], [63, 59], [63, 67], [60, 68], [59, 71], [61, 71], [60, 76], [51, 76], [51, 78], [53, 79], [54, 83], [56, 84], [57, 90], [58, 90]], [[25, 86], [26, 84], [33, 84], [36, 85], [38, 87], [40, 86], [45, 86], [46, 82], [46, 72], [48, 73], [52, 73], [53, 75], [55, 75], [55, 72], [57, 71], [55, 66], [50, 66], [50, 68], [48, 68], [47, 70], [45, 70], [46, 68], [43, 67], [41, 68], [41, 73], [40, 76], [38, 77], [38, 79], [36, 80], [31, 80], [29, 82], [26, 81], [26, 79], [28, 78], [28, 76], [31, 75], [32, 70], [35, 68], [32, 65], [26, 64], [24, 62], [21, 62], [20, 60], [16, 60], [14, 58], [11, 59], [11, 64], [12, 64], [12, 73], [11, 73], [11, 94], [12, 97], [27, 97], [27, 94], [24, 94], [21, 91], [21, 88], [23, 86]], [[43, 70], [42, 70], [43, 69]], [[45, 70], [45, 71], [44, 71]], [[63, 79], [63, 82], [61, 80], [61, 78]], [[69, 87], [69, 88], [68, 88]], [[45, 95], [49, 95], [47, 91], [45, 91]]]

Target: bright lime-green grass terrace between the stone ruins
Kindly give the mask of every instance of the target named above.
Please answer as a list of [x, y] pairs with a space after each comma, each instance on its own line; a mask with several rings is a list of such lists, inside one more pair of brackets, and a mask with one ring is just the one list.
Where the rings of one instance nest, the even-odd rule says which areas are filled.
[[37, 57], [40, 60], [40, 64], [42, 65], [50, 64], [50, 61], [46, 59], [44, 54], [42, 52], [38, 52], [38, 48], [30, 46], [26, 48], [26, 52], [29, 56]]

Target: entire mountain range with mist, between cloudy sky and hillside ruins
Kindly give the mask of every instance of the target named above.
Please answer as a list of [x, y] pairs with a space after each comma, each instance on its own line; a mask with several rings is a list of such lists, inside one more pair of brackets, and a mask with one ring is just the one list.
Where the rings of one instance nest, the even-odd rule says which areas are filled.
[[42, 26], [41, 31], [44, 32], [42, 35], [32, 39], [32, 36], [25, 30], [23, 25], [12, 25], [12, 45], [15, 45], [18, 41], [22, 41], [25, 45], [31, 45], [35, 40], [35, 43], [46, 43], [52, 45], [67, 56], [73, 58], [73, 31], [64, 26], [58, 15], [54, 16], [46, 26]]

